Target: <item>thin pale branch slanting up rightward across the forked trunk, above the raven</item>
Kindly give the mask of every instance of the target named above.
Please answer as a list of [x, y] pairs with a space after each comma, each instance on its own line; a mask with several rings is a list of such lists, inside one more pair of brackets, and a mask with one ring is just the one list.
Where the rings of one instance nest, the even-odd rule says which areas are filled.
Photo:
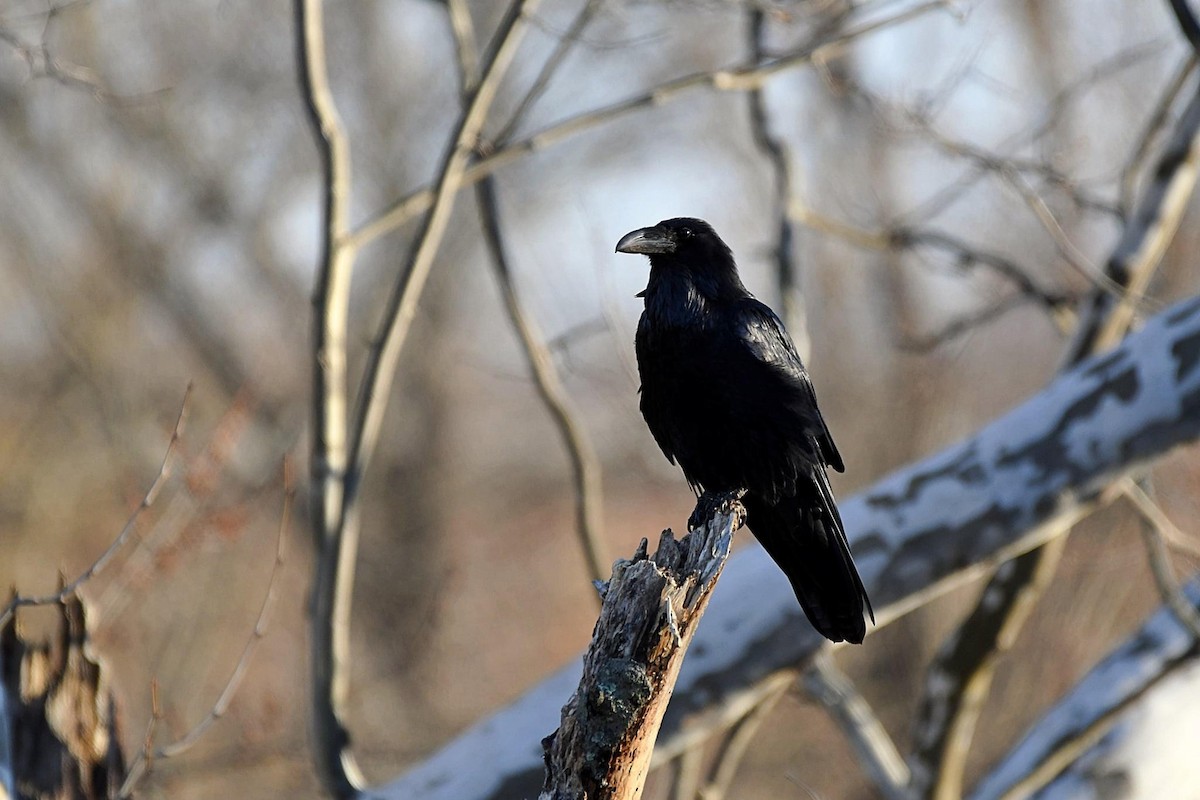
[[[480, 158], [472, 167], [466, 169], [461, 176], [457, 188], [463, 188], [479, 182], [497, 169], [505, 167], [532, 152], [540, 152], [547, 148], [569, 139], [578, 133], [594, 127], [606, 125], [626, 114], [646, 108], [662, 106], [678, 100], [697, 89], [712, 89], [714, 91], [750, 91], [756, 86], [762, 86], [768, 79], [781, 72], [812, 64], [815, 54], [826, 46], [845, 47], [846, 44], [888, 29], [900, 25], [912, 19], [917, 19], [932, 11], [950, 7], [949, 0], [928, 0], [917, 6], [898, 12], [872, 23], [868, 23], [846, 31], [835, 40], [808, 44], [798, 50], [772, 59], [766, 64], [749, 62], [725, 70], [700, 72], [683, 78], [676, 78], [650, 89], [649, 91], [630, 97], [624, 101], [611, 103], [601, 108], [584, 112], [576, 116], [568, 118], [524, 139], [520, 139], [508, 146], [498, 149], [485, 158]], [[348, 243], [364, 246], [376, 239], [396, 230], [408, 222], [413, 216], [426, 211], [434, 204], [438, 191], [436, 187], [420, 188], [392, 204], [386, 210], [374, 216], [359, 228], [355, 228], [347, 237]]]

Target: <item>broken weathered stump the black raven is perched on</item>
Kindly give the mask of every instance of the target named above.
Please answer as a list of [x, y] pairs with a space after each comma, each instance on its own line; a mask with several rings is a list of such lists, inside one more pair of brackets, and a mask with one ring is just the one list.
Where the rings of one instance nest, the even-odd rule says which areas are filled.
[[636, 800], [696, 625], [745, 511], [726, 498], [703, 527], [662, 531], [613, 565], [578, 688], [544, 740], [541, 800]]

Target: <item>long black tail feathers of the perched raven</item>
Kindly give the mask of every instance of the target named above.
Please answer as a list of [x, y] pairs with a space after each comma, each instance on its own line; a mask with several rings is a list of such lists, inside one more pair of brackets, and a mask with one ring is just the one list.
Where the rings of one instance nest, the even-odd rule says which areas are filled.
[[832, 642], [859, 644], [866, 636], [863, 614], [874, 622], [875, 612], [850, 554], [829, 479], [820, 468], [811, 479], [776, 504], [748, 494], [742, 500], [746, 525], [792, 582], [812, 627]]

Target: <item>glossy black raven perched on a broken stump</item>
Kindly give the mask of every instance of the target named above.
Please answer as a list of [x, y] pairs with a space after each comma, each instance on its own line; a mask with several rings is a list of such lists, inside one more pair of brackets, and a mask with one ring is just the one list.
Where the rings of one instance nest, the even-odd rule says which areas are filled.
[[845, 467], [784, 324], [702, 219], [635, 230], [617, 252], [650, 258], [636, 347], [654, 439], [697, 494], [745, 491], [746, 524], [812, 626], [860, 643], [875, 614], [826, 475]]

